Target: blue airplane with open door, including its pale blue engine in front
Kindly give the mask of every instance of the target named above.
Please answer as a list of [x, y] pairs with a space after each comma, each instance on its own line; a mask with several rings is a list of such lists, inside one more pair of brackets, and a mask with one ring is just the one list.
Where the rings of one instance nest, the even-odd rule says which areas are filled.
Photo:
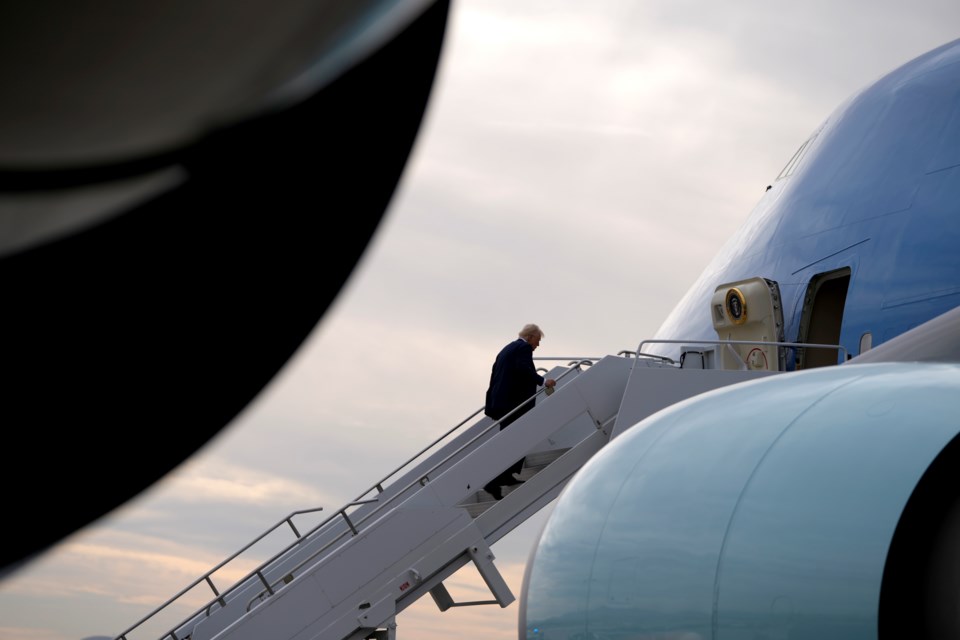
[[960, 637], [957, 87], [960, 40], [840, 105], [638, 345], [777, 373], [617, 427], [518, 638]]

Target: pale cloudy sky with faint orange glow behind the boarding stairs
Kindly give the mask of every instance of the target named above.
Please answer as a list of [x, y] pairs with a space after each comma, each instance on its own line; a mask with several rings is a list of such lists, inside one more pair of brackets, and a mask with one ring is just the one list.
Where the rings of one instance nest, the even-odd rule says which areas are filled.
[[[527, 322], [538, 356], [636, 349], [817, 125], [958, 25], [956, 0], [454, 0], [335, 305], [189, 462], [0, 583], [0, 639], [114, 636], [292, 511], [336, 511], [478, 409]], [[518, 597], [546, 515], [493, 548]], [[398, 637], [513, 640], [517, 615], [426, 598]]]

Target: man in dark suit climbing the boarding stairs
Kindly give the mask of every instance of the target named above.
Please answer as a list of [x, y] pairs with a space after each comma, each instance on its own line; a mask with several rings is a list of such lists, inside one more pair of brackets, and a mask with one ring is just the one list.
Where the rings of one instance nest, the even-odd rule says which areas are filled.
[[[524, 413], [533, 409], [532, 396], [537, 392], [537, 387], [551, 388], [556, 384], [555, 380], [544, 378], [537, 373], [537, 368], [533, 364], [533, 351], [540, 346], [540, 339], [544, 336], [540, 327], [535, 324], [528, 324], [520, 330], [519, 336], [500, 350], [490, 372], [490, 386], [487, 388], [486, 404], [483, 412], [494, 420], [499, 420], [520, 407], [500, 423], [501, 431]], [[525, 400], [528, 401], [524, 402]], [[514, 474], [520, 473], [520, 470], [523, 469], [523, 460], [523, 458], [520, 458], [503, 473], [488, 482], [483, 487], [484, 491], [500, 500], [503, 497], [501, 487], [509, 487], [523, 482], [514, 477]]]

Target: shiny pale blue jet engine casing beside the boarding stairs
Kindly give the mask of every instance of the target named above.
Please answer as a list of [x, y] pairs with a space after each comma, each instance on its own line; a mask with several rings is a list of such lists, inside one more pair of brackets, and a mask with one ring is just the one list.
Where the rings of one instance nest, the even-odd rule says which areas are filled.
[[639, 422], [566, 486], [520, 637], [960, 637], [960, 365], [785, 373]]

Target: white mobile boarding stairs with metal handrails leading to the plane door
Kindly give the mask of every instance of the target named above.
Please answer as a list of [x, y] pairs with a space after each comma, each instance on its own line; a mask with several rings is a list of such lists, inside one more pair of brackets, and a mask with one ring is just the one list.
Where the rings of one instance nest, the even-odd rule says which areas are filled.
[[[510, 605], [491, 546], [554, 500], [604, 445], [685, 397], [775, 373], [742, 360], [717, 369], [714, 351], [699, 347], [683, 347], [679, 362], [643, 348], [542, 369], [554, 391], [540, 389], [533, 410], [509, 428], [477, 410], [306, 533], [294, 518], [317, 510], [281, 520], [116, 640], [394, 640], [398, 614], [427, 594], [440, 611]], [[520, 457], [525, 482], [495, 500], [482, 487]], [[287, 529], [290, 544], [220, 590], [221, 569]], [[455, 602], [444, 581], [470, 563], [491, 598]], [[177, 620], [198, 589], [207, 592], [203, 604]]]

